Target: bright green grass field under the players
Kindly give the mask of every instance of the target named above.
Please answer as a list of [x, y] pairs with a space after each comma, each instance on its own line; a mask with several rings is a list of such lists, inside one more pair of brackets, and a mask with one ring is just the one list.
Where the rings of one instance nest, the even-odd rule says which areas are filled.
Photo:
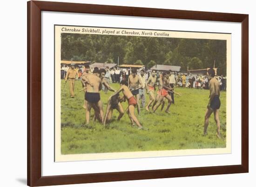
[[[65, 81], [62, 80], [61, 88]], [[111, 84], [115, 89], [119, 84]], [[61, 154], [111, 153], [132, 151], [179, 150], [226, 147], [226, 92], [221, 92], [220, 120], [222, 139], [216, 137], [213, 115], [209, 120], [208, 135], [203, 136], [204, 114], [208, 104], [209, 90], [175, 88], [175, 105], [171, 114], [160, 111], [149, 113], [145, 109], [137, 115], [141, 125], [148, 130], [138, 130], [130, 125], [125, 114], [118, 122], [114, 110], [111, 123], [103, 127], [99, 122], [85, 124], [85, 109], [82, 108], [84, 93], [81, 82], [75, 82], [75, 98], [69, 97], [68, 84], [61, 92]], [[108, 94], [102, 93], [104, 111]], [[146, 102], [148, 102], [148, 95]], [[128, 106], [122, 103], [123, 108]], [[167, 105], [166, 105], [167, 106]], [[93, 111], [93, 110], [92, 110]], [[93, 112], [92, 114], [93, 115]]]

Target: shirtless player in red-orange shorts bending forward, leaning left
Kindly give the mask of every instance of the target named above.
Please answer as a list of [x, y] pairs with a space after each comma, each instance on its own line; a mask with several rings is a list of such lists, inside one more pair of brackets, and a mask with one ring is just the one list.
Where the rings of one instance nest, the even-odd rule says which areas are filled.
[[132, 124], [134, 124], [134, 122], [136, 123], [136, 125], [138, 126], [138, 129], [143, 129], [143, 127], [141, 126], [140, 122], [138, 121], [138, 119], [135, 116], [135, 106], [137, 105], [137, 102], [135, 100], [135, 97], [133, 96], [133, 94], [131, 93], [130, 89], [127, 87], [127, 82], [125, 80], [122, 80], [120, 83], [120, 88], [119, 90], [117, 90], [111, 97], [117, 95], [118, 93], [122, 92], [124, 97], [128, 100], [128, 108], [127, 108], [127, 113], [128, 116], [132, 122]]

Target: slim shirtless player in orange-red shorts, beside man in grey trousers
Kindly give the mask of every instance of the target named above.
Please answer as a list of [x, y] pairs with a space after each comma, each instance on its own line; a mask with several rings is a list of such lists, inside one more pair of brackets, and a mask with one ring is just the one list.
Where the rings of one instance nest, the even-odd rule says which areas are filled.
[[147, 111], [149, 111], [150, 105], [155, 102], [155, 82], [156, 82], [156, 76], [155, 76], [155, 70], [153, 70], [145, 85], [147, 93], [150, 98], [150, 100], [148, 101], [148, 105], [146, 107]]

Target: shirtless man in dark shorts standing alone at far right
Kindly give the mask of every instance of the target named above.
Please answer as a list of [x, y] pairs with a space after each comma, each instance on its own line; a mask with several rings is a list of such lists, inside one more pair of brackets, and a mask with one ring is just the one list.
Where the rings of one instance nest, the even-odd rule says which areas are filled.
[[221, 138], [221, 124], [219, 119], [219, 109], [221, 107], [221, 101], [220, 101], [220, 84], [219, 81], [215, 78], [215, 71], [213, 68], [210, 68], [208, 70], [208, 79], [209, 79], [209, 103], [207, 105], [206, 113], [204, 116], [204, 131], [203, 134], [207, 134], [207, 127], [209, 125], [209, 118], [212, 113], [214, 113], [214, 119], [217, 126], [217, 134], [216, 136], [218, 138]]

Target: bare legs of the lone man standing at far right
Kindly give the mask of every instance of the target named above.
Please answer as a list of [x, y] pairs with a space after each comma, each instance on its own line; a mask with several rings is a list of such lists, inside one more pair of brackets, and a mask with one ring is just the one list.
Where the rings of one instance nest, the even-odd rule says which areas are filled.
[[207, 134], [207, 128], [208, 128], [208, 125], [209, 125], [209, 118], [210, 118], [210, 116], [213, 112], [214, 112], [214, 119], [215, 119], [216, 126], [217, 126], [217, 137], [221, 138], [221, 133], [220, 133], [221, 125], [220, 125], [220, 119], [219, 119], [219, 109], [216, 109], [215, 111], [211, 108], [206, 109], [206, 113], [205, 113], [205, 116], [204, 116], [203, 134], [204, 135]]

